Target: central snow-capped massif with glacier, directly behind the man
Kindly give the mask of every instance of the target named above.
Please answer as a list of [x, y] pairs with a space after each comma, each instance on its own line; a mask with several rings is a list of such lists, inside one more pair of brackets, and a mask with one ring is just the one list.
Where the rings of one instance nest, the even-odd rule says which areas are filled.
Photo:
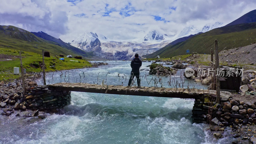
[[[140, 56], [159, 50], [171, 41], [164, 41], [167, 35], [156, 30], [149, 32], [143, 39], [111, 40], [93, 32], [84, 33], [70, 44], [84, 51], [93, 51], [95, 55], [109, 60], [129, 60], [135, 53]], [[144, 41], [148, 39], [147, 41]], [[168, 39], [168, 38], [167, 38]]]

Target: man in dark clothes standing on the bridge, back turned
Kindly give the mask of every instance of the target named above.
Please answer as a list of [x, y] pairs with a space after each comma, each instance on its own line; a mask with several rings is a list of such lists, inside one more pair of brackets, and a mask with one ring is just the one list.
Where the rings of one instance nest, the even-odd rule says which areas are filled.
[[131, 85], [134, 76], [136, 76], [138, 87], [140, 87], [140, 67], [141, 67], [141, 65], [142, 65], [142, 61], [139, 59], [139, 54], [136, 53], [135, 58], [131, 61], [132, 71], [131, 71], [131, 76], [130, 76], [130, 79], [128, 82], [128, 86]]

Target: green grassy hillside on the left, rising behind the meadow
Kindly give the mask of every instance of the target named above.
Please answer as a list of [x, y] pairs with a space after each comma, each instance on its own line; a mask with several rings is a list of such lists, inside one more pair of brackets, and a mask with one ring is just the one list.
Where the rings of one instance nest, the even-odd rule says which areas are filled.
[[22, 50], [28, 52], [42, 53], [44, 51], [50, 52], [50, 55], [72, 55], [82, 56], [83, 58], [92, 58], [92, 52], [84, 52], [77, 48], [71, 50], [65, 47], [60, 47], [52, 41], [47, 41], [35, 36], [34, 34], [14, 27], [14, 26], [0, 26], [0, 46], [13, 50]]

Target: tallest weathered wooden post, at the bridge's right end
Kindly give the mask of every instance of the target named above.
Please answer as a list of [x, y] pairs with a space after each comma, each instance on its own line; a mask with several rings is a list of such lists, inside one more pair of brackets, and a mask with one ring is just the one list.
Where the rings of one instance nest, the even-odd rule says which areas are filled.
[[[215, 72], [219, 68], [219, 51], [218, 51], [218, 41], [215, 40]], [[220, 103], [220, 76], [216, 75], [216, 103]]]

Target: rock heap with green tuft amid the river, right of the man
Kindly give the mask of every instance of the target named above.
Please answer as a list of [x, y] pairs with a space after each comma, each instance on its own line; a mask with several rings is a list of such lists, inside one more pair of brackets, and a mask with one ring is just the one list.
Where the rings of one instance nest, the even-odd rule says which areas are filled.
[[149, 70], [150, 75], [170, 76], [176, 73], [176, 70], [170, 67], [164, 67], [162, 64], [153, 63], [149, 65], [149, 67], [150, 67], [150, 70]]

